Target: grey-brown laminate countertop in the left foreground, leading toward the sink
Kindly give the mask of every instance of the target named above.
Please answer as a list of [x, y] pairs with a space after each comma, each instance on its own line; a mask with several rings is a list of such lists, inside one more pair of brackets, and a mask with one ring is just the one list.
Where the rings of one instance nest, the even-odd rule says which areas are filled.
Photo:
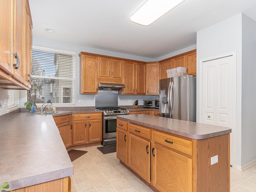
[[15, 190], [73, 175], [52, 115], [21, 112], [0, 124], [0, 185]]

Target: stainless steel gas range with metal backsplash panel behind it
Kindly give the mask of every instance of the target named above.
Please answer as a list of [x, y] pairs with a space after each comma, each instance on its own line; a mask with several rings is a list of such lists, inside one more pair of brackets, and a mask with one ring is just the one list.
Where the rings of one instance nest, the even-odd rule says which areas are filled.
[[99, 88], [95, 106], [103, 114], [102, 145], [116, 144], [116, 116], [129, 114], [129, 110], [118, 107], [118, 89]]

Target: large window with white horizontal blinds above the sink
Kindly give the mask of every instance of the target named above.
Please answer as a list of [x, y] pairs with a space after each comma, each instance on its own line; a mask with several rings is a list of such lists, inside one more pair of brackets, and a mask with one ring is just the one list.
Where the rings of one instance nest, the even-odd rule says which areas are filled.
[[[27, 101], [36, 104], [74, 105], [75, 56], [75, 52], [33, 46], [32, 87]], [[37, 90], [32, 89], [33, 83], [38, 86]]]

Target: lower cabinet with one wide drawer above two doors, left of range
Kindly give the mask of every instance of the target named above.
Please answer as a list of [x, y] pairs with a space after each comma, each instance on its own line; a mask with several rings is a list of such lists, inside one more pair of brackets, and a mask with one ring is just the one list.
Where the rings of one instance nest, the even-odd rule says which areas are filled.
[[73, 145], [102, 141], [102, 114], [73, 114]]

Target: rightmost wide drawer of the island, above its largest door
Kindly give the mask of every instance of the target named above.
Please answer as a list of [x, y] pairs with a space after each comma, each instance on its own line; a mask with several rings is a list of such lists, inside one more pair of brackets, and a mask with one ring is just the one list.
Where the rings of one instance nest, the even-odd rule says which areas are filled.
[[154, 142], [192, 155], [192, 141], [154, 131]]

